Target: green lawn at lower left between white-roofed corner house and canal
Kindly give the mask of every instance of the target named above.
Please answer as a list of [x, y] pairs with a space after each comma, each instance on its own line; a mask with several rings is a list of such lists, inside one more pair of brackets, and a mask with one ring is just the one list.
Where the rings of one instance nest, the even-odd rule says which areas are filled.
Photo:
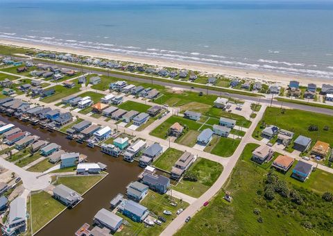
[[[44, 191], [31, 194], [30, 202], [33, 233], [66, 208], [65, 205], [53, 199], [51, 194]], [[27, 210], [30, 210], [30, 204], [27, 205]]]

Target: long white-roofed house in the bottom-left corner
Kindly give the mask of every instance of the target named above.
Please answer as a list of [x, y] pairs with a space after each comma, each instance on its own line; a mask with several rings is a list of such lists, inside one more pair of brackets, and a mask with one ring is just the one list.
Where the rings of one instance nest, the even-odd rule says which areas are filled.
[[26, 231], [26, 199], [17, 197], [10, 203], [6, 224], [1, 228], [3, 236], [20, 235]]

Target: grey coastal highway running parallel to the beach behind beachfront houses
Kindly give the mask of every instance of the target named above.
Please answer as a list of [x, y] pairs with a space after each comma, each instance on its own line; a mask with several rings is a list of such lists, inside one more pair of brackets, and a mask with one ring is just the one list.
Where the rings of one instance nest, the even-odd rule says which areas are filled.
[[[15, 57], [12, 57], [12, 58], [15, 58]], [[22, 60], [22, 58], [15, 58], [15, 59]], [[45, 64], [45, 65], [57, 65], [57, 62], [54, 62], [54, 63], [41, 62], [41, 63]], [[267, 106], [271, 106], [271, 105], [278, 106], [278, 107], [283, 106], [286, 108], [293, 108], [293, 109], [299, 109], [299, 110], [306, 110], [309, 112], [322, 113], [322, 114], [326, 114], [326, 115], [333, 115], [333, 109], [319, 108], [319, 107], [315, 107], [315, 106], [307, 106], [307, 105], [302, 105], [302, 104], [298, 104], [298, 103], [288, 103], [285, 101], [277, 101], [275, 99], [267, 99], [265, 97], [247, 96], [245, 94], [233, 94], [232, 90], [230, 90], [230, 92], [228, 92], [228, 93], [225, 93], [225, 92], [221, 92], [221, 91], [211, 90], [209, 86], [207, 86], [207, 88], [196, 87], [195, 84], [190, 84], [190, 83], [189, 83], [189, 85], [180, 85], [180, 84], [172, 83], [172, 80], [155, 81], [155, 80], [149, 79], [149, 78], [136, 77], [135, 74], [123, 75], [123, 74], [112, 73], [112, 71], [99, 71], [99, 70], [94, 69], [94, 67], [91, 67], [91, 69], [86, 69], [86, 68], [73, 67], [71, 65], [58, 64], [58, 66], [60, 66], [62, 68], [66, 68], [66, 69], [80, 70], [85, 73], [103, 74], [105, 76], [112, 76], [114, 78], [126, 79], [129, 81], [151, 83], [151, 84], [155, 84], [155, 85], [162, 85], [164, 87], [167, 87], [167, 86], [168, 87], [179, 87], [179, 88], [182, 88], [183, 90], [190, 90], [192, 92], [203, 92], [203, 94], [214, 94], [217, 96], [225, 96], [225, 97], [229, 97], [232, 99], [241, 99], [241, 100], [250, 101], [253, 103], [259, 102], [260, 104], [264, 104]]]

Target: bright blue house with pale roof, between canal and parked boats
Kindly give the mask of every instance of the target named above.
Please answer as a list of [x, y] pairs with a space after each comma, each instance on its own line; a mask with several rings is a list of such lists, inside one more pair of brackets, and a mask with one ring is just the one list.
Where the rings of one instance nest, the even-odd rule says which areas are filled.
[[128, 202], [123, 206], [123, 215], [135, 222], [144, 221], [148, 214], [149, 211], [146, 207], [132, 200], [128, 200]]

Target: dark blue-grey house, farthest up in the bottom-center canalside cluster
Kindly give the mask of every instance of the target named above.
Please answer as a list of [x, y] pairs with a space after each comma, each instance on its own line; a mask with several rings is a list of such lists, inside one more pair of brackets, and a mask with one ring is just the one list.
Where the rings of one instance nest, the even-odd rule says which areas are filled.
[[142, 183], [144, 185], [148, 185], [150, 189], [159, 194], [165, 194], [170, 187], [169, 178], [161, 175], [155, 176], [149, 173], [144, 175], [144, 178], [142, 178]]

